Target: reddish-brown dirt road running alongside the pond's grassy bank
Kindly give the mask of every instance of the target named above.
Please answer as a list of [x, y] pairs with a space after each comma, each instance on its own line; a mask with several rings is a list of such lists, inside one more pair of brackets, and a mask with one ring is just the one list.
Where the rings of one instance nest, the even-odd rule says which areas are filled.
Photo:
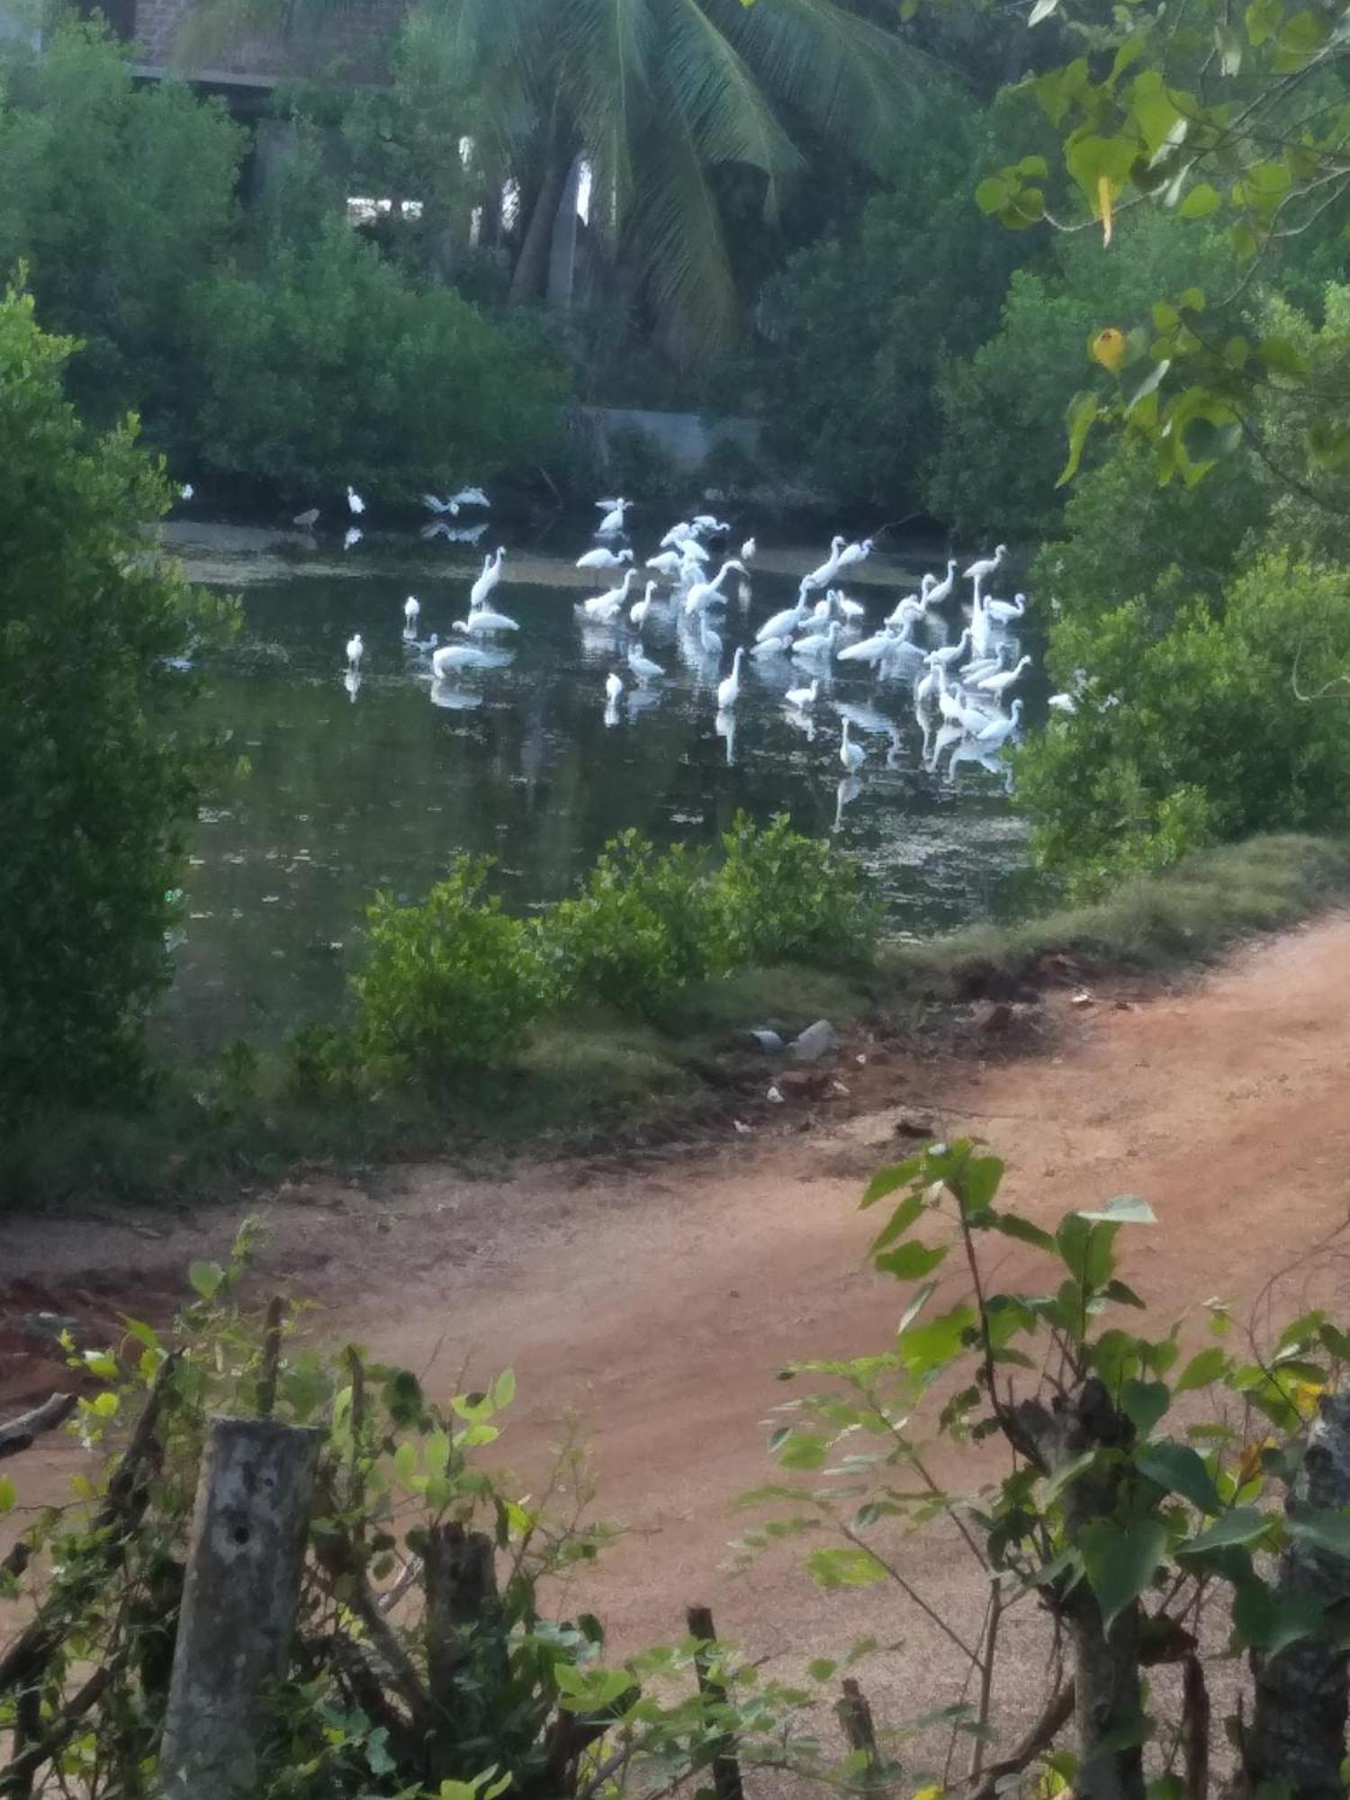
[[[864, 1175], [898, 1152], [896, 1109], [990, 1139], [1008, 1199], [1033, 1217], [1125, 1188], [1147, 1195], [1159, 1226], [1130, 1240], [1134, 1278], [1163, 1321], [1215, 1292], [1251, 1300], [1346, 1220], [1350, 918], [1127, 1010], [1057, 1012], [1049, 1055], [878, 1071], [895, 1103], [835, 1129], [803, 1134], [778, 1112], [718, 1152], [639, 1172], [466, 1183], [412, 1168], [369, 1195], [283, 1190], [261, 1206], [265, 1278], [320, 1298], [335, 1337], [432, 1382], [509, 1361], [520, 1467], [542, 1467], [565, 1411], [581, 1420], [603, 1512], [632, 1528], [585, 1595], [621, 1642], [677, 1634], [684, 1602], [700, 1598], [761, 1652], [814, 1654], [869, 1629], [907, 1636], [922, 1656], [905, 1658], [895, 1699], [918, 1710], [950, 1697], [952, 1663], [895, 1595], [823, 1597], [787, 1561], [742, 1579], [720, 1568], [738, 1530], [727, 1499], [767, 1474], [763, 1420], [788, 1391], [776, 1368], [880, 1346], [900, 1310], [895, 1285], [862, 1267], [869, 1220], [855, 1204]], [[167, 1292], [230, 1228], [214, 1213], [11, 1222], [0, 1291], [112, 1312], [139, 1285]], [[1330, 1246], [1280, 1298], [1292, 1309], [1309, 1289], [1346, 1285]], [[983, 1595], [956, 1557], [929, 1543], [911, 1561], [943, 1615], [974, 1633]]]

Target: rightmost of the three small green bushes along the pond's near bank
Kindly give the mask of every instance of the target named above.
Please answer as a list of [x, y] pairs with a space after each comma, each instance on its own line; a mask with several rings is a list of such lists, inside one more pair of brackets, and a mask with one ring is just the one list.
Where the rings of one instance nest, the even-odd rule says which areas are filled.
[[736, 815], [722, 837], [709, 909], [722, 968], [846, 968], [871, 958], [882, 927], [859, 864], [828, 839], [794, 832], [787, 814], [765, 826]]

